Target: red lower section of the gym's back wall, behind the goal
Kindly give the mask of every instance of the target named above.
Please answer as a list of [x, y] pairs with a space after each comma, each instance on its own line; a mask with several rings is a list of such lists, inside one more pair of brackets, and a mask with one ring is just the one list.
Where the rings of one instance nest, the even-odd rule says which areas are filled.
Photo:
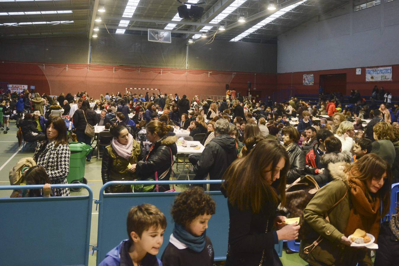
[[[247, 95], [247, 81], [255, 86], [255, 73], [194, 69], [156, 69], [117, 65], [43, 64], [1, 62], [0, 82], [34, 85], [39, 93], [59, 95], [61, 92], [87, 91], [89, 96], [121, 93], [125, 88], [159, 89], [161, 93], [224, 95], [225, 84]], [[210, 73], [209, 73], [210, 72]], [[264, 95], [277, 85], [275, 74], [256, 73], [257, 91]]]

